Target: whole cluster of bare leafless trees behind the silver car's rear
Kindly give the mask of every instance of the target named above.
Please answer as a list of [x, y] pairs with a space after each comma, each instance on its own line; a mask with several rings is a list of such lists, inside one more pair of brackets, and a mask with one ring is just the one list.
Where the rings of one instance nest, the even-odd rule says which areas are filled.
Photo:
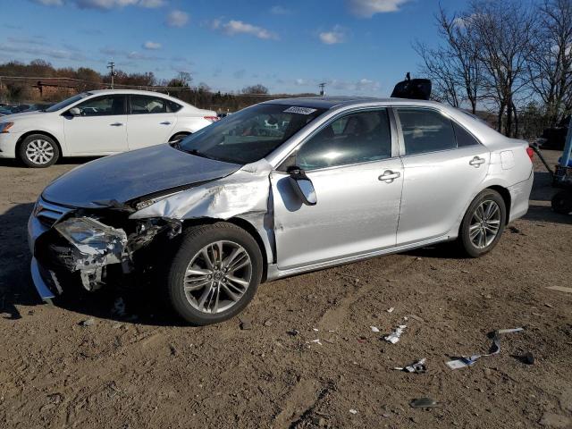
[[415, 42], [433, 97], [494, 114], [509, 137], [537, 137], [572, 112], [572, 0], [471, 0], [440, 7], [440, 43]]

